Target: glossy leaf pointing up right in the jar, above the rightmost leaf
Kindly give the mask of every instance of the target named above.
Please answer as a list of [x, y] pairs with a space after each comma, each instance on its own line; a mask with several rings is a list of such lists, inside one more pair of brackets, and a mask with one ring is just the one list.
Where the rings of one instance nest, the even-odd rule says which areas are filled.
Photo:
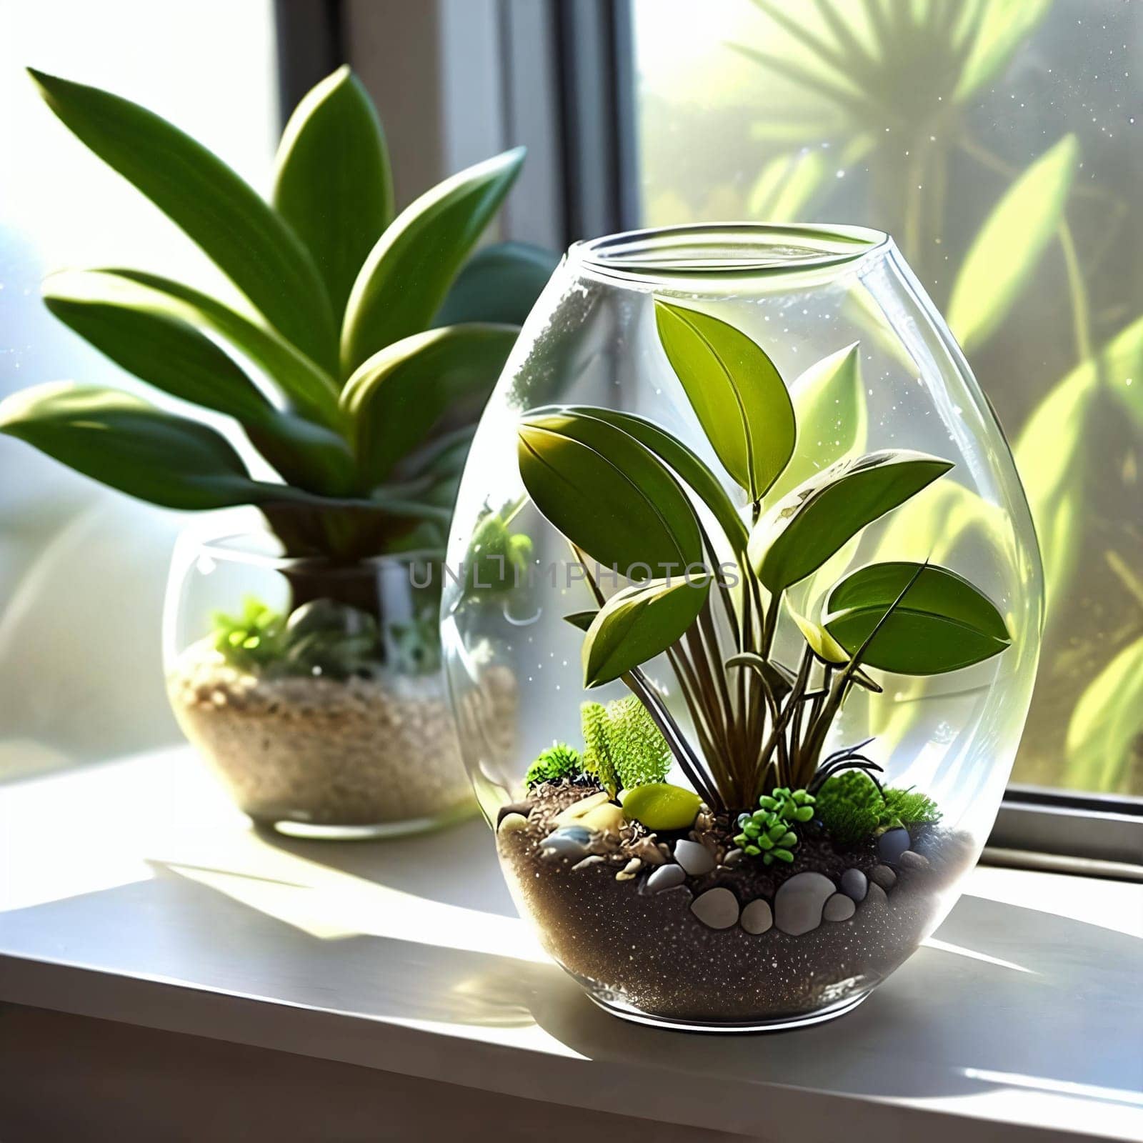
[[750, 562], [769, 591], [783, 591], [951, 467], [949, 461], [903, 449], [841, 461], [759, 520], [750, 536]]

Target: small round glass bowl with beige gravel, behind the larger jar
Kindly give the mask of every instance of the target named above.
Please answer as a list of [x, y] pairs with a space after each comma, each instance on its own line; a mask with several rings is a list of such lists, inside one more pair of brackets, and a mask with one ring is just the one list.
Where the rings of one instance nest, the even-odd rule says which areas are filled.
[[[315, 838], [471, 812], [441, 670], [439, 555], [287, 559], [271, 533], [232, 523], [181, 536], [163, 656], [175, 717], [238, 806]], [[488, 701], [512, 721], [510, 694]]]

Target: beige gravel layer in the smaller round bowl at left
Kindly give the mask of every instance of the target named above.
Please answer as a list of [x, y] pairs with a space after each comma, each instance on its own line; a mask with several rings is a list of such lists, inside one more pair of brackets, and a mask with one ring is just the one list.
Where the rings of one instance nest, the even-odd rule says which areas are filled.
[[[183, 733], [256, 821], [387, 825], [472, 799], [439, 673], [259, 679], [198, 646], [168, 694]], [[480, 701], [512, 725], [511, 674], [487, 672]]]

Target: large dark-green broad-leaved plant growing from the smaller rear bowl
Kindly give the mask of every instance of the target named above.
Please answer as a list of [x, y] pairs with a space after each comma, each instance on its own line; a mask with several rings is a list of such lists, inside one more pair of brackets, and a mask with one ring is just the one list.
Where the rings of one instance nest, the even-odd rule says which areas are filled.
[[[114, 389], [17, 393], [0, 403], [0, 432], [155, 504], [254, 504], [288, 555], [345, 565], [441, 550], [472, 426], [554, 264], [507, 243], [463, 265], [523, 151], [461, 171], [394, 217], [381, 123], [343, 67], [290, 118], [267, 202], [143, 107], [32, 77], [248, 303], [104, 269], [50, 277], [48, 309], [160, 393], [233, 418], [280, 480], [251, 475], [201, 421]], [[295, 607], [328, 597], [379, 616], [367, 577], [349, 598], [344, 578], [322, 582], [311, 562], [305, 583], [293, 582]]]

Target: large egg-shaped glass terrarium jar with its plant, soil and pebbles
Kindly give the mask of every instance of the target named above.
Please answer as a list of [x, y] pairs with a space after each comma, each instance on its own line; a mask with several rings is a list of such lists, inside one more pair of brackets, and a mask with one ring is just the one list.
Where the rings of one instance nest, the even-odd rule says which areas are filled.
[[[491, 547], [513, 585], [473, 599]], [[478, 800], [598, 1004], [828, 1018], [952, 906], [1028, 711], [1041, 569], [1000, 427], [885, 234], [574, 246], [478, 429], [448, 565]]]

